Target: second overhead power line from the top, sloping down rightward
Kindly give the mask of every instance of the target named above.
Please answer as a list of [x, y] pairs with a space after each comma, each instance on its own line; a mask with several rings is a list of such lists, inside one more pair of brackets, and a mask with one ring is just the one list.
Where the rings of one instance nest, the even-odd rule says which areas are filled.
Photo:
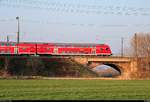
[[60, 13], [73, 13], [73, 14], [96, 14], [96, 15], [117, 15], [117, 16], [150, 16], [148, 12], [117, 12], [117, 11], [103, 11], [103, 10], [84, 10], [84, 9], [69, 9], [69, 8], [55, 8], [55, 7], [31, 7], [31, 6], [20, 6], [20, 5], [9, 5], [3, 4], [2, 6], [12, 7], [12, 8], [25, 8], [25, 9], [38, 9], [38, 10], [47, 10], [51, 12], [60, 12]]

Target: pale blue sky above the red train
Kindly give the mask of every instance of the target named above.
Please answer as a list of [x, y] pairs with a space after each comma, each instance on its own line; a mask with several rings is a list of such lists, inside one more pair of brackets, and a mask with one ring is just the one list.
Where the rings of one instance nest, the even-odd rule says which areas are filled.
[[114, 54], [150, 32], [150, 0], [0, 0], [0, 41], [103, 43]]

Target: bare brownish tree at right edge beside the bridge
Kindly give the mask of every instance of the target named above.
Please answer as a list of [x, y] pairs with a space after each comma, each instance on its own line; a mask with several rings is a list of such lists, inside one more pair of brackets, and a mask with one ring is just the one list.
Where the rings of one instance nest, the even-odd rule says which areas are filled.
[[131, 39], [131, 52], [140, 59], [141, 69], [150, 70], [150, 33], [136, 33]]

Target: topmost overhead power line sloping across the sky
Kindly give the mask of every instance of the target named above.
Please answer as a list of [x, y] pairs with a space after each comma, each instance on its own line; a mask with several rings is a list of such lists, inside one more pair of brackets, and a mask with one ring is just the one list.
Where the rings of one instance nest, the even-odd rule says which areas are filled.
[[[15, 2], [16, 1], [16, 2]], [[19, 2], [17, 2], [19, 1]], [[48, 1], [37, 1], [37, 0], [5, 0], [3, 1], [4, 3], [7, 4], [18, 4], [18, 5], [30, 5], [30, 6], [56, 6], [56, 7], [73, 7], [73, 8], [86, 8], [86, 9], [115, 9], [115, 10], [130, 10], [130, 11], [147, 11], [150, 10], [150, 8], [136, 8], [136, 7], [121, 7], [121, 6], [113, 6], [113, 5], [109, 5], [109, 6], [102, 6], [102, 5], [88, 5], [88, 4], [72, 4], [72, 3], [67, 3], [67, 2], [48, 2]]]

